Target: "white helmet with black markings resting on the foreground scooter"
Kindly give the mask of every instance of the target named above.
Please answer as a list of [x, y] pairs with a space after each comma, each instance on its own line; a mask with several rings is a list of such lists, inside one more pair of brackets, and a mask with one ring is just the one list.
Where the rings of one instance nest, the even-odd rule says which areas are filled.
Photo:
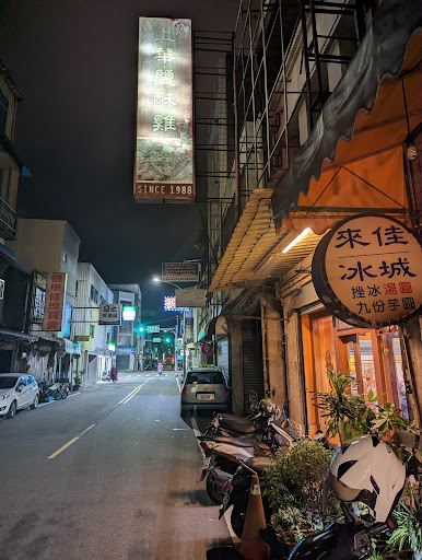
[[384, 523], [400, 498], [406, 467], [389, 445], [375, 435], [363, 435], [336, 453], [329, 479], [340, 500], [363, 502]]

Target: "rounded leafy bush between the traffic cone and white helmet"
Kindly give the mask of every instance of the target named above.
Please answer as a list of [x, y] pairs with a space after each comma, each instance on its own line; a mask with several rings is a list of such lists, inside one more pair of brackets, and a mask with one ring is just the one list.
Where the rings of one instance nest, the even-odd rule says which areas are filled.
[[277, 453], [277, 463], [263, 471], [272, 523], [292, 539], [324, 526], [323, 482], [332, 452], [303, 439]]

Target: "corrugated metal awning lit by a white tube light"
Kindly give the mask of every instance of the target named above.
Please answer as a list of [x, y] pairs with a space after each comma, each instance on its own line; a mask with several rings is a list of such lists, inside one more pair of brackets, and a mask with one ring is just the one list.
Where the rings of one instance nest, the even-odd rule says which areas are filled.
[[250, 194], [209, 288], [210, 292], [253, 288], [271, 276], [281, 276], [312, 253], [320, 236], [307, 233], [288, 253], [296, 233], [276, 233], [270, 208], [271, 188]]

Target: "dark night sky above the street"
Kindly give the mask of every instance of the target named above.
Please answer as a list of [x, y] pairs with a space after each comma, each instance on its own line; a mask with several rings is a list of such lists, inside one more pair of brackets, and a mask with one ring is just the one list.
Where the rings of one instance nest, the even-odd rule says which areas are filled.
[[196, 205], [132, 199], [138, 16], [232, 32], [238, 1], [0, 2], [0, 59], [23, 95], [15, 148], [32, 173], [20, 183], [19, 215], [68, 220], [80, 260], [106, 282], [139, 282], [143, 308], [161, 310], [173, 289], [151, 277], [162, 261], [202, 256], [194, 248], [201, 219]]

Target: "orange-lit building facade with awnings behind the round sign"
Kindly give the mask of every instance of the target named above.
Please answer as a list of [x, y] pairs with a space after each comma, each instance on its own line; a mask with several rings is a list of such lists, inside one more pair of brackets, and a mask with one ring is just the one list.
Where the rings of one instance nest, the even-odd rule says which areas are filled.
[[215, 362], [227, 340], [235, 411], [271, 392], [313, 433], [324, 428], [314, 392], [335, 369], [420, 423], [418, 316], [345, 324], [312, 277], [316, 246], [344, 218], [395, 217], [420, 237], [418, 13], [412, 1], [241, 1], [234, 158], [214, 155], [226, 179], [209, 188], [209, 305], [197, 320]]

